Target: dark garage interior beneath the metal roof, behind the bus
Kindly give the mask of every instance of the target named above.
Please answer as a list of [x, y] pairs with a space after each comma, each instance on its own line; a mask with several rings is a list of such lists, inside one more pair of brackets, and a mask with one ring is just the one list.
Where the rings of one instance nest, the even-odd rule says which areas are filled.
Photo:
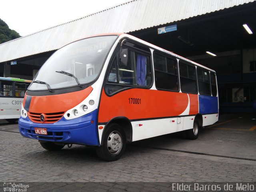
[[[158, 34], [158, 28], [173, 24], [177, 24], [176, 31]], [[253, 34], [248, 34], [243, 24], [247, 24]], [[253, 108], [256, 101], [255, 1], [128, 34], [215, 70], [220, 113], [256, 112]], [[0, 63], [0, 76], [9, 74], [32, 80], [53, 52], [17, 59], [18, 65]]]

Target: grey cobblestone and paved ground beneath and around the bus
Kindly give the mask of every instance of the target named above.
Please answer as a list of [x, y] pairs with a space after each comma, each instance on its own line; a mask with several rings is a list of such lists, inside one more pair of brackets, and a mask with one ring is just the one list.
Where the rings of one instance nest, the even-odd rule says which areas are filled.
[[192, 186], [192, 182], [222, 182], [222, 191], [223, 182], [254, 182], [250, 184], [255, 191], [256, 130], [251, 129], [255, 122], [251, 117], [232, 122], [229, 119], [234, 116], [227, 118], [215, 129], [201, 130], [197, 140], [169, 134], [133, 142], [116, 162], [100, 160], [94, 147], [73, 145], [46, 151], [37, 140], [22, 137], [18, 124], [0, 120], [0, 191], [4, 182], [28, 184], [27, 192], [170, 192], [174, 190], [170, 182]]

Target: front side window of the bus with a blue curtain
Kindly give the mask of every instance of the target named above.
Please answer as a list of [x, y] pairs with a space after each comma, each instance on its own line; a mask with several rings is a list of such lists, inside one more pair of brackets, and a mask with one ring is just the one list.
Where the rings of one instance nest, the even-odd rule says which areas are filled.
[[123, 85], [149, 86], [151, 84], [150, 58], [145, 54], [128, 51], [127, 66], [118, 66], [116, 59], [112, 62], [108, 82]]

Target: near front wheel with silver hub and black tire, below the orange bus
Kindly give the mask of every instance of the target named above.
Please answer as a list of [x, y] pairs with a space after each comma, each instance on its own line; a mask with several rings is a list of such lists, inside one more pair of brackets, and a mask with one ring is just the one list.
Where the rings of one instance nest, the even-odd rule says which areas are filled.
[[116, 161], [121, 158], [126, 147], [126, 137], [118, 124], [110, 124], [103, 138], [102, 146], [96, 147], [99, 158], [106, 161]]

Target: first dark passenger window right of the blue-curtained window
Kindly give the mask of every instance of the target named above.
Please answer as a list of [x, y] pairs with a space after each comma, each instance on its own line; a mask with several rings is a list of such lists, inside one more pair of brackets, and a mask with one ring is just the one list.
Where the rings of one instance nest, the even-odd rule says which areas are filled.
[[156, 88], [178, 91], [177, 60], [154, 54]]

